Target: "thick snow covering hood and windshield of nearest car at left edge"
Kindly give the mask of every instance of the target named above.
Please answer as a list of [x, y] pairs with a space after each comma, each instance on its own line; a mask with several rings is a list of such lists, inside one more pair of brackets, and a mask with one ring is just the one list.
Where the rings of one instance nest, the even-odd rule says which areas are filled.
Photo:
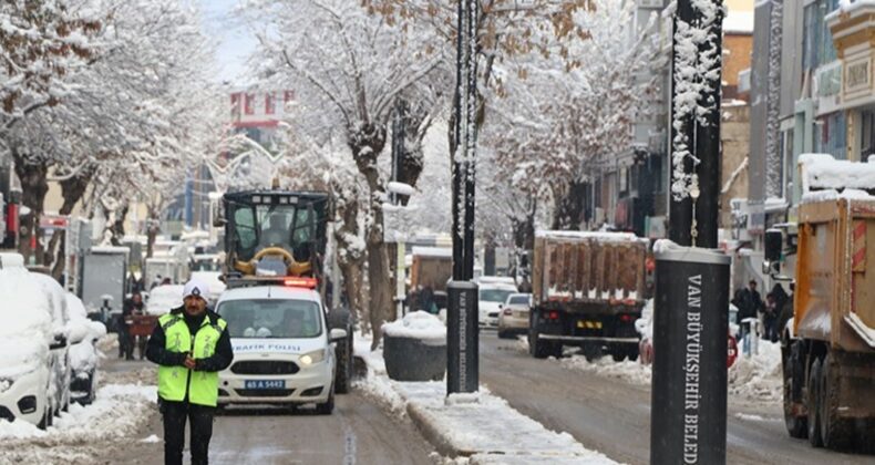
[[0, 379], [17, 379], [47, 363], [52, 317], [42, 287], [8, 257], [0, 258]]

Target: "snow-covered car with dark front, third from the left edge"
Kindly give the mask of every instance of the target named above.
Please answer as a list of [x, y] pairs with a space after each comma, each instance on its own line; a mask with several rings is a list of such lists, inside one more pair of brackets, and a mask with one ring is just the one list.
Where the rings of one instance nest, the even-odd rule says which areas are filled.
[[70, 311], [70, 396], [73, 402], [90, 404], [94, 401], [97, 384], [96, 342], [106, 335], [106, 326], [87, 318], [85, 306], [76, 296], [66, 293]]

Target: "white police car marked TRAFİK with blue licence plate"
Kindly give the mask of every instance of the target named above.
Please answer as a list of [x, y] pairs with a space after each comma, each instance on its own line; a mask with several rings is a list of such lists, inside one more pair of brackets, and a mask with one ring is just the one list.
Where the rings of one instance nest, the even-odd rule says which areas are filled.
[[219, 406], [316, 404], [334, 407], [333, 342], [318, 292], [306, 287], [259, 286], [223, 293], [216, 311], [228, 322], [234, 362], [219, 373]]

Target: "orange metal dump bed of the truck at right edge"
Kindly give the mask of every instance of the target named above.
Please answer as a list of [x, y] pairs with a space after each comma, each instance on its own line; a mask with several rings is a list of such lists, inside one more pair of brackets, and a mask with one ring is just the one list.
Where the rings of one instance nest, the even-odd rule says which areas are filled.
[[799, 213], [795, 333], [874, 351], [875, 200], [824, 196]]

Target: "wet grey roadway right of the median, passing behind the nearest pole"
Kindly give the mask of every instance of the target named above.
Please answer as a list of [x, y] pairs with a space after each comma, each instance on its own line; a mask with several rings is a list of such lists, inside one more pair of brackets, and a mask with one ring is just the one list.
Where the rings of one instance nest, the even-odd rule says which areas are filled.
[[[480, 381], [511, 406], [547, 428], [629, 464], [650, 461], [650, 388], [632, 379], [536, 360], [518, 341], [481, 332]], [[773, 402], [730, 400], [728, 463], [871, 464], [873, 456], [812, 448], [784, 430], [780, 393]]]

